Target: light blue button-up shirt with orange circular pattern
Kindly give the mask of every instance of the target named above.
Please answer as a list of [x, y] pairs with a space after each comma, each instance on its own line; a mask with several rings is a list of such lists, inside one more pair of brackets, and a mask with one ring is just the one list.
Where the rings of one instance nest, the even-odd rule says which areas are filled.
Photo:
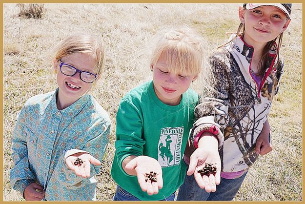
[[92, 177], [84, 179], [67, 168], [64, 156], [79, 149], [102, 161], [111, 133], [109, 116], [87, 94], [58, 110], [57, 93], [37, 95], [24, 104], [12, 136], [11, 185], [23, 195], [27, 185], [37, 182], [48, 201], [95, 199], [94, 175], [101, 166], [91, 164]]

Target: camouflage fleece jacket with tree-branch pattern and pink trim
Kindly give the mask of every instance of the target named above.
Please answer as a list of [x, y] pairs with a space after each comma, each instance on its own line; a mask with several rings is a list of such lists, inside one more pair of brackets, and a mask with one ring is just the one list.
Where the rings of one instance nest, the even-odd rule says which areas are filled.
[[[196, 128], [218, 123], [224, 134], [224, 144], [220, 147], [223, 172], [246, 171], [258, 158], [256, 139], [267, 120], [283, 73], [282, 60], [273, 68], [278, 59], [275, 44], [269, 51], [269, 68], [257, 86], [250, 74], [253, 52], [253, 47], [238, 37], [213, 53], [210, 64], [218, 92], [214, 97], [204, 98], [195, 108]], [[191, 134], [193, 141], [195, 137]]]

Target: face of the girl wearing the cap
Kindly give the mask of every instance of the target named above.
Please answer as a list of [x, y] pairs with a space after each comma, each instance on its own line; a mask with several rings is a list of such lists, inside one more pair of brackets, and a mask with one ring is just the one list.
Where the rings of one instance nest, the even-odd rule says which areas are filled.
[[252, 46], [274, 40], [290, 22], [276, 6], [260, 6], [252, 10], [240, 7], [239, 17], [244, 23], [244, 41]]

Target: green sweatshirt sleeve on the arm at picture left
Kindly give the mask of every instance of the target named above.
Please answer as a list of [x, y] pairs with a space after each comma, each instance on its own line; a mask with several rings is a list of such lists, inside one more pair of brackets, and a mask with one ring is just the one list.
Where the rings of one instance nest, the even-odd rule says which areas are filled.
[[117, 113], [116, 129], [116, 156], [118, 165], [122, 172], [122, 161], [131, 155], [140, 156], [143, 154], [145, 141], [142, 138], [143, 125], [140, 107], [121, 101]]

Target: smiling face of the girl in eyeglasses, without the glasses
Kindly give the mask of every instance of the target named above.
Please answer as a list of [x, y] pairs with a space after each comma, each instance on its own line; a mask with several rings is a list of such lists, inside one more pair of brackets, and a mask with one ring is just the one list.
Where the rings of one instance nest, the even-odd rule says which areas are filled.
[[[96, 61], [87, 54], [71, 54], [62, 57], [61, 62], [70, 64], [81, 71], [96, 74], [96, 70], [94, 69]], [[93, 83], [81, 81], [80, 73], [76, 73], [71, 77], [62, 74], [59, 61], [54, 60], [53, 65], [57, 71], [56, 80], [59, 87], [57, 106], [61, 110], [80, 99], [81, 96], [91, 89]]]

